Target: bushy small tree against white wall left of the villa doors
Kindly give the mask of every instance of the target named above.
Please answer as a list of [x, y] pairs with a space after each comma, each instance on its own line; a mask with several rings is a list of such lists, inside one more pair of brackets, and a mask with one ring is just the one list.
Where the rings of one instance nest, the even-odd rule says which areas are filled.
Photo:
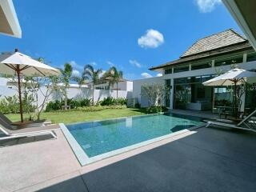
[[144, 84], [141, 94], [148, 99], [149, 106], [162, 106], [166, 90], [166, 87], [162, 84]]

